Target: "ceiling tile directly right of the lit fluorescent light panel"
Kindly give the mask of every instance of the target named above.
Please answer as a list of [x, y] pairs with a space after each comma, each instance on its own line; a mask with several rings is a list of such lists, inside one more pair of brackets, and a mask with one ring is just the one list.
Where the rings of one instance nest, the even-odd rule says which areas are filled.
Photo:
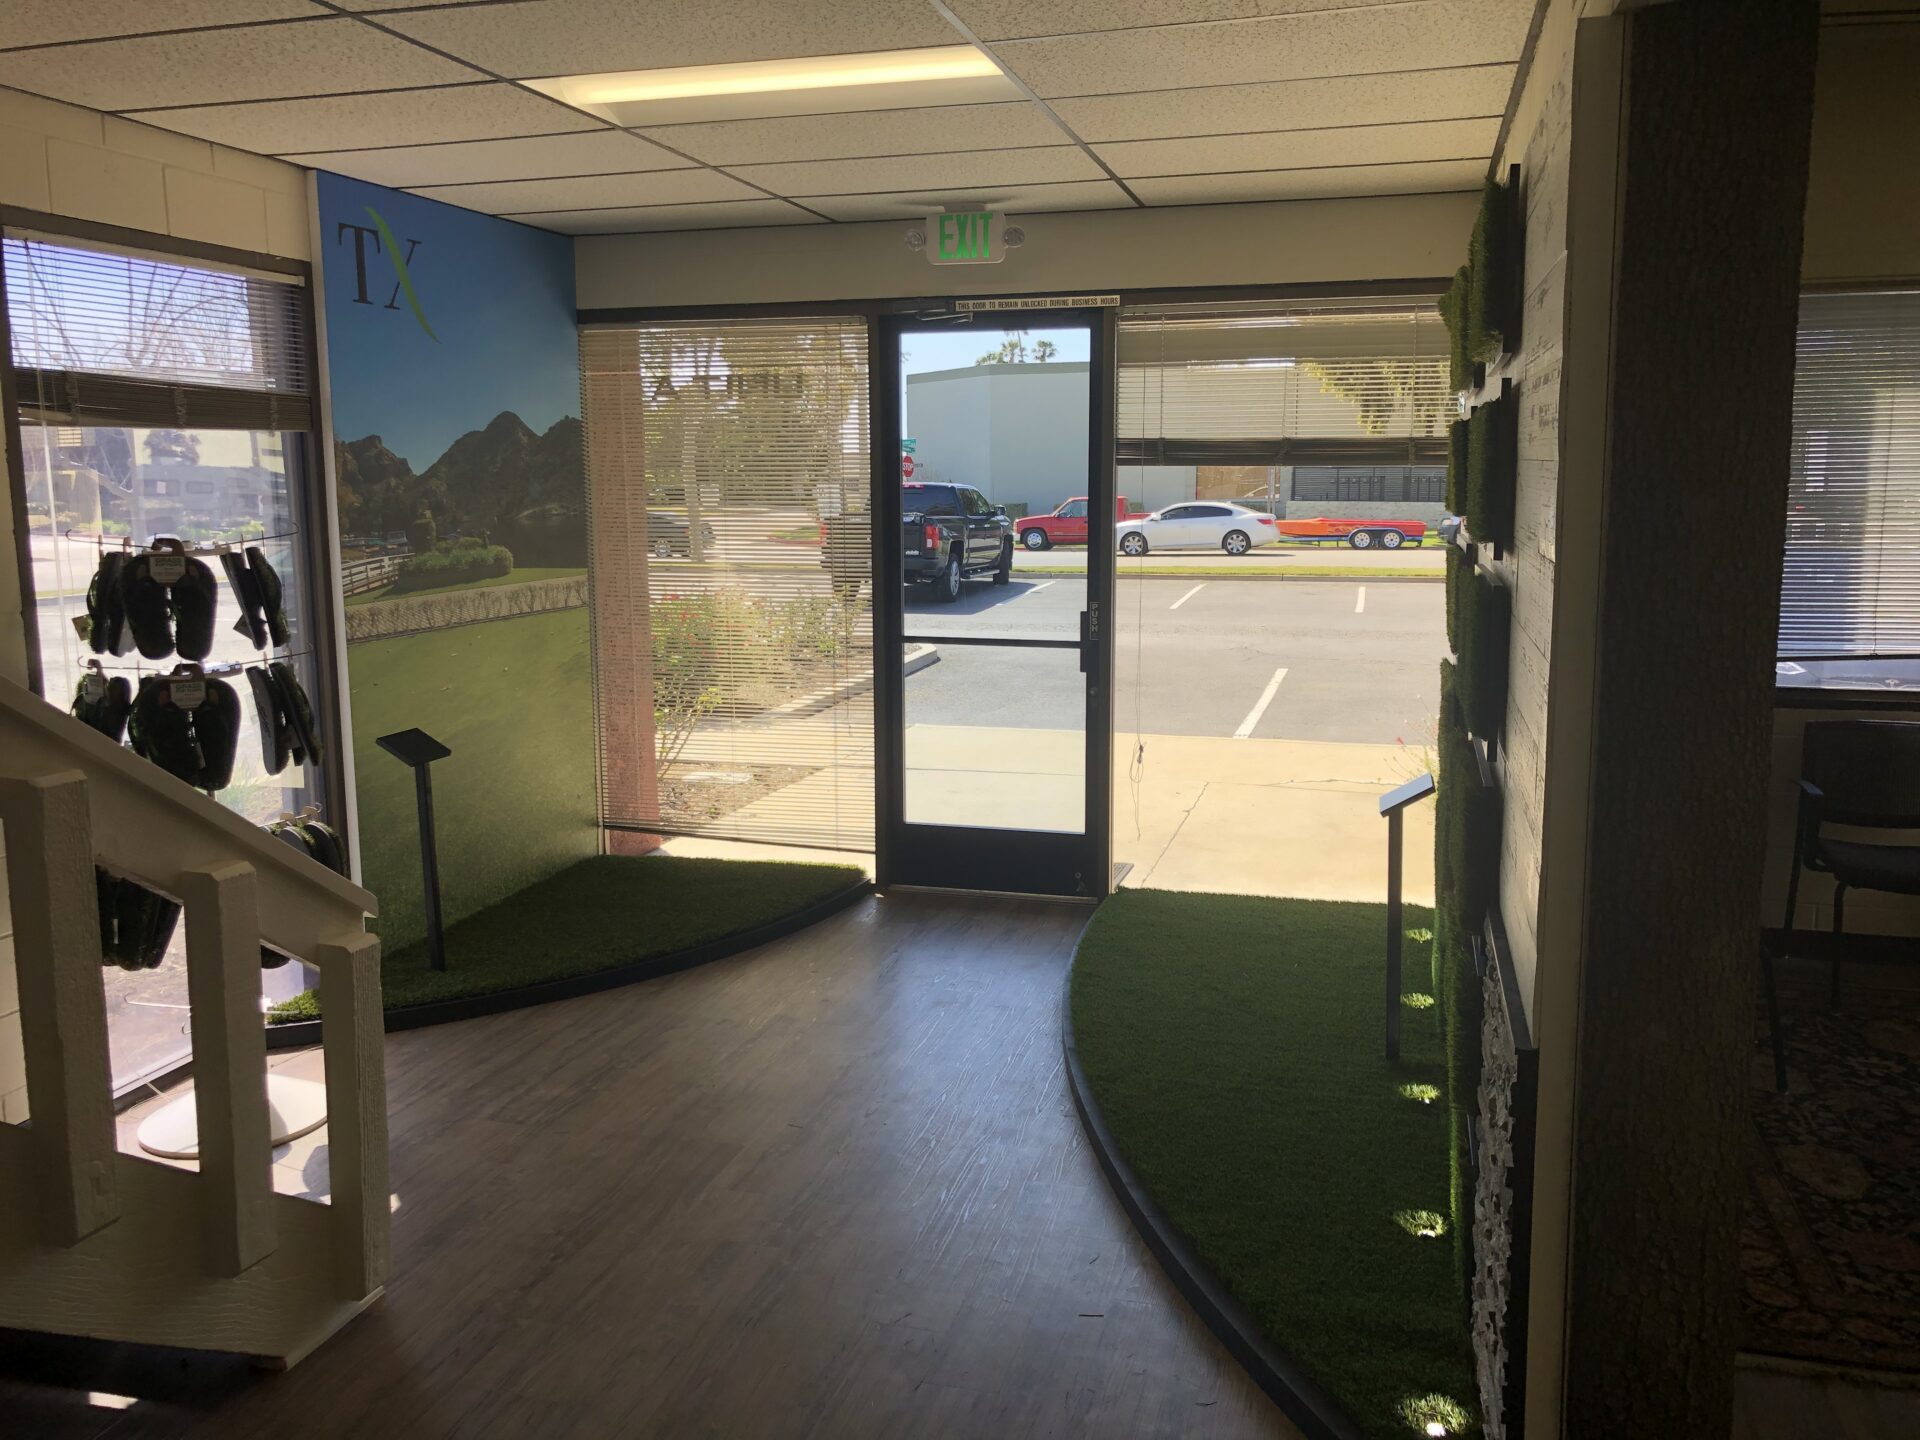
[[1530, 15], [1532, 0], [1430, 0], [1006, 40], [995, 54], [1041, 96], [1183, 90], [1511, 61]]

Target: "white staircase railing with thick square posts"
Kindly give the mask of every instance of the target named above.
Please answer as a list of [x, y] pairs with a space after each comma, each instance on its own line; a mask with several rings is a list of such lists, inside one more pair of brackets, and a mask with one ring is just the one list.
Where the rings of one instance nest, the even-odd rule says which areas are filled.
[[[0, 680], [25, 1125], [0, 1125], [0, 1327], [292, 1365], [380, 1294], [372, 897]], [[198, 1171], [115, 1146], [94, 866], [184, 906]], [[259, 945], [321, 973], [330, 1202], [275, 1194]]]

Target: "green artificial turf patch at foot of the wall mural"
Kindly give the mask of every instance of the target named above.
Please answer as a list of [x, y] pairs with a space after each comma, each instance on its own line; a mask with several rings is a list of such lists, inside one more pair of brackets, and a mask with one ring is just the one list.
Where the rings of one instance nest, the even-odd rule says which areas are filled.
[[[384, 954], [380, 993], [388, 1010], [403, 1010], [618, 970], [781, 920], [862, 874], [833, 864], [599, 854], [449, 925], [445, 970], [428, 970], [424, 941]], [[305, 991], [276, 1004], [269, 1023], [319, 1014], [319, 993]]]

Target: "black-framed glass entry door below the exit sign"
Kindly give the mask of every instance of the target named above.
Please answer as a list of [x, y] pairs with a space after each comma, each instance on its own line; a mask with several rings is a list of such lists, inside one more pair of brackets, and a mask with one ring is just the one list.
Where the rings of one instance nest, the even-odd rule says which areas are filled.
[[1108, 893], [1112, 323], [887, 317], [879, 879]]

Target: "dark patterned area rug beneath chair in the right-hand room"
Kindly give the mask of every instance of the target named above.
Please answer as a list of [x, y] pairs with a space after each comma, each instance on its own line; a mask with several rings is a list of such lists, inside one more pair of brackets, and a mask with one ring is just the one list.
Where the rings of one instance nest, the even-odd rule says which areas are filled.
[[1920, 1373], [1920, 991], [1782, 975], [1788, 1091], [1761, 1023], [1741, 1350]]

